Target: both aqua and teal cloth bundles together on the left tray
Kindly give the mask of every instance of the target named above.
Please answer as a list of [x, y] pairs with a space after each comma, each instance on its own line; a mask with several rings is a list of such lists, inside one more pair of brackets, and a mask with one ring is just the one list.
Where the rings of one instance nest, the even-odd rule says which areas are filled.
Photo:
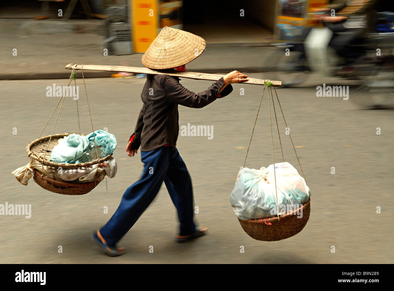
[[[113, 134], [106, 131], [97, 130], [94, 132], [96, 145], [101, 149], [101, 157], [105, 157], [114, 152], [117, 142]], [[93, 132], [87, 136], [79, 134], [70, 134], [59, 139], [59, 144], [52, 149], [50, 155], [51, 162], [80, 164], [89, 162], [86, 153], [89, 151], [89, 145], [95, 145]]]

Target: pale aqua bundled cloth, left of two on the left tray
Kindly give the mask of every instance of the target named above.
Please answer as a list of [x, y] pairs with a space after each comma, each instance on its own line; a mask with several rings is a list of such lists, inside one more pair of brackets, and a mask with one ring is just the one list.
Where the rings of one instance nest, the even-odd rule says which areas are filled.
[[89, 149], [89, 140], [86, 136], [70, 134], [59, 139], [59, 144], [52, 149], [50, 161], [57, 163], [79, 164], [80, 158]]

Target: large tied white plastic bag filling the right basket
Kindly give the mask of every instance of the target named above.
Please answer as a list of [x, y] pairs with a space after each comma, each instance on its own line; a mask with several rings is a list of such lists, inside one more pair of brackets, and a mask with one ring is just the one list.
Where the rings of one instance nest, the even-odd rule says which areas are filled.
[[309, 187], [291, 164], [276, 163], [275, 175], [277, 192], [273, 164], [260, 170], [242, 168], [238, 172], [230, 202], [240, 220], [285, 215], [309, 200]]

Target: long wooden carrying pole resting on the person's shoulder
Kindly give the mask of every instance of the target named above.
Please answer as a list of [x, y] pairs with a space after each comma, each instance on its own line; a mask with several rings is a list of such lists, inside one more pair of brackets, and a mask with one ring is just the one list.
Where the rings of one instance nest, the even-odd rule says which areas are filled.
[[[83, 67], [82, 67], [83, 66]], [[125, 67], [125, 66], [103, 66], [103, 65], [76, 65], [73, 63], [65, 66], [65, 69], [84, 69], [91, 71], [110, 71], [110, 72], [127, 72], [127, 73], [137, 73], [137, 74], [149, 74], [149, 75], [162, 75], [167, 74], [170, 76], [177, 76], [182, 78], [190, 78], [197, 80], [219, 80], [221, 77], [225, 75], [217, 75], [217, 74], [208, 74], [208, 73], [197, 73], [197, 72], [180, 72], [180, 71], [155, 71], [148, 68], [143, 67]], [[264, 85], [266, 80], [249, 78], [249, 81], [242, 82], [241, 84], [255, 84], [255, 85]], [[281, 81], [272, 81], [272, 86], [280, 87], [282, 86]]]

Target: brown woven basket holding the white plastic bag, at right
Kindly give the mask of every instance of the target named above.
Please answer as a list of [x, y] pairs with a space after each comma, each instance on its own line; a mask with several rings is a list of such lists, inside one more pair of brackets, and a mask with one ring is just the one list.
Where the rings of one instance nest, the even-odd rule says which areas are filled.
[[[301, 207], [300, 207], [301, 208]], [[280, 241], [299, 233], [307, 224], [310, 215], [310, 198], [302, 205], [302, 217], [296, 215], [300, 208], [284, 216], [254, 220], [239, 220], [243, 230], [258, 241]]]

